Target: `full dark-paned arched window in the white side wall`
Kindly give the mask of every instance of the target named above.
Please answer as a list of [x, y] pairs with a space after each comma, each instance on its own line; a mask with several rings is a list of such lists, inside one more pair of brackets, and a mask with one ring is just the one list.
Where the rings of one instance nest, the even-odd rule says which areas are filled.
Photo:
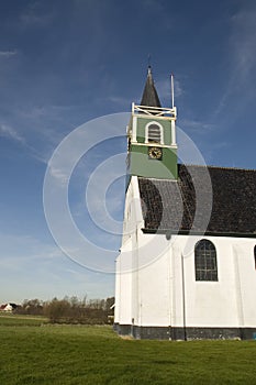
[[194, 246], [196, 280], [218, 280], [216, 250], [208, 240], [199, 241]]

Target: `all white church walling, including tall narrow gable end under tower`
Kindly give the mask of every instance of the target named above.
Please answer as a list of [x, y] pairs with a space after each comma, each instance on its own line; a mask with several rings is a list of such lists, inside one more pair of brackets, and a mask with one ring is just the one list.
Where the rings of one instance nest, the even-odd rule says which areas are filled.
[[[115, 322], [137, 326], [256, 327], [255, 239], [144, 234], [137, 178], [125, 202], [116, 260]], [[218, 282], [196, 282], [194, 245], [216, 249]], [[183, 266], [183, 270], [182, 270]], [[183, 272], [183, 273], [182, 273]]]

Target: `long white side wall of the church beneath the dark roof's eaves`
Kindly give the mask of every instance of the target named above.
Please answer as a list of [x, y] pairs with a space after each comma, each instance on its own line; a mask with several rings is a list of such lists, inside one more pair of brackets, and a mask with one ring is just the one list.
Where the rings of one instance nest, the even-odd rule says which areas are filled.
[[[218, 282], [196, 280], [194, 245], [201, 239], [215, 245]], [[254, 240], [176, 235], [167, 241], [164, 234], [141, 232], [138, 244], [140, 271], [133, 275], [137, 283], [135, 324], [255, 326]]]

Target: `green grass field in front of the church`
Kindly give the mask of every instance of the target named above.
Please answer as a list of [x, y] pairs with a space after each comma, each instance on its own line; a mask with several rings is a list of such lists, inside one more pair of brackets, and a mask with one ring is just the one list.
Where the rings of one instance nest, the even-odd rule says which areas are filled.
[[0, 383], [256, 384], [255, 341], [134, 341], [111, 327], [0, 316]]

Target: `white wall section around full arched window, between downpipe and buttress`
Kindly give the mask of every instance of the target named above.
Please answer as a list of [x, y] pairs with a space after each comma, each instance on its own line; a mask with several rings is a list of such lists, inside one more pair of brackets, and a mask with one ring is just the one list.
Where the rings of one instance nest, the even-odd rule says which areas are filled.
[[[185, 257], [186, 323], [191, 327], [233, 327], [237, 324], [235, 280], [232, 249], [223, 238], [204, 238], [216, 249], [218, 282], [199, 282], [194, 276], [196, 243], [191, 238], [191, 253]], [[232, 290], [233, 288], [233, 290]]]

